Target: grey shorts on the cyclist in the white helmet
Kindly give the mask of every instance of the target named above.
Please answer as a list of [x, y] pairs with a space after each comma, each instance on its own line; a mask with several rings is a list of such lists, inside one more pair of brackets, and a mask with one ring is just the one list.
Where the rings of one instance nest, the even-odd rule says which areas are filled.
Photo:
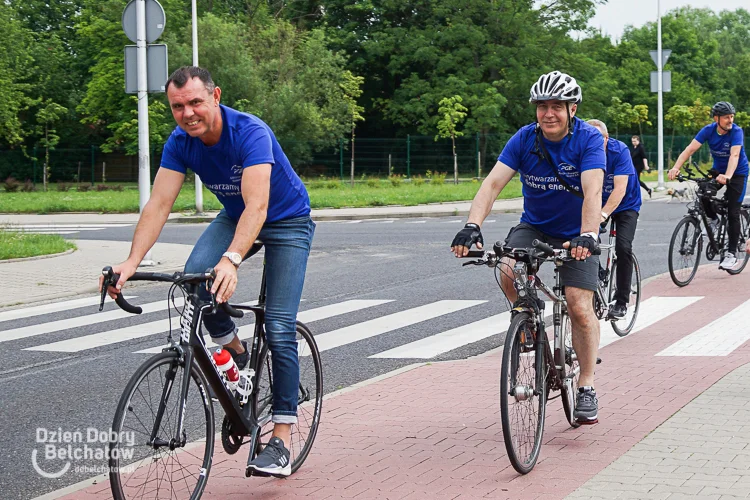
[[[553, 248], [562, 248], [567, 240], [548, 236], [531, 224], [521, 222], [511, 228], [505, 238], [505, 245], [513, 248], [530, 248], [534, 240], [543, 241]], [[596, 290], [599, 280], [599, 256], [592, 255], [586, 260], [571, 260], [564, 262], [560, 268], [560, 280], [563, 286]]]

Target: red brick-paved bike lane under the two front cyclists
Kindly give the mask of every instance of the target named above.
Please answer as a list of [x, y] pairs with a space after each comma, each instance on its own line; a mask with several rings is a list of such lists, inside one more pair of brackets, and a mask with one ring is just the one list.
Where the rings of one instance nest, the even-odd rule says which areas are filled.
[[[498, 349], [420, 364], [327, 397], [310, 456], [284, 480], [245, 478], [246, 448], [229, 456], [217, 439], [204, 498], [564, 498], [750, 362], [745, 344], [726, 356], [657, 356], [750, 299], [750, 273], [704, 266], [685, 288], [660, 276], [644, 285], [642, 301], [652, 297], [701, 298], [600, 350], [599, 424], [573, 429], [561, 401], [550, 401], [541, 455], [526, 476], [505, 453]], [[62, 498], [111, 498], [107, 481], [67, 491]]]

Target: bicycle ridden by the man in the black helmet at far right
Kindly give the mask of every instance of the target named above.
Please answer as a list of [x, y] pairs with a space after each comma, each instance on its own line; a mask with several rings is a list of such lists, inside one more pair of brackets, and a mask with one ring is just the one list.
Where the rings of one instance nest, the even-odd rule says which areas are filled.
[[[695, 201], [688, 204], [688, 213], [677, 223], [669, 241], [669, 275], [672, 282], [687, 286], [695, 277], [703, 253], [703, 240], [706, 239], [706, 258], [719, 262], [729, 251], [729, 215], [727, 201], [718, 198], [716, 193], [721, 189], [715, 179], [703, 172], [696, 165], [685, 165], [685, 174], [677, 176], [680, 182], [694, 181], [697, 184]], [[708, 216], [701, 200], [713, 204], [719, 217], [716, 228], [708, 223]], [[750, 205], [743, 204], [740, 209], [740, 239], [737, 244], [738, 264], [733, 269], [724, 269], [729, 274], [739, 274], [745, 269], [750, 255], [742, 252], [745, 242], [750, 237]]]

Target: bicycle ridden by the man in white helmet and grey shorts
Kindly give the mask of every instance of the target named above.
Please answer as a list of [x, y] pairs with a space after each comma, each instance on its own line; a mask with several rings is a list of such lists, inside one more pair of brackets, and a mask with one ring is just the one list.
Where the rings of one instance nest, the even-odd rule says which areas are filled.
[[[580, 424], [573, 416], [580, 366], [573, 350], [565, 288], [560, 267], [573, 260], [567, 250], [553, 249], [534, 240], [533, 248], [511, 248], [501, 242], [493, 251], [471, 250], [467, 257], [477, 260], [467, 265], [486, 265], [495, 269], [500, 284], [504, 257], [515, 260], [508, 277], [512, 279], [518, 299], [511, 308], [511, 322], [505, 337], [500, 378], [500, 416], [505, 448], [513, 468], [527, 474], [536, 465], [542, 446], [547, 401], [552, 391], [560, 391], [565, 418], [572, 427]], [[555, 264], [555, 285], [550, 288], [538, 276], [545, 262]], [[553, 347], [550, 347], [545, 325], [545, 301], [552, 301], [554, 325]], [[599, 363], [601, 360], [597, 360]]]

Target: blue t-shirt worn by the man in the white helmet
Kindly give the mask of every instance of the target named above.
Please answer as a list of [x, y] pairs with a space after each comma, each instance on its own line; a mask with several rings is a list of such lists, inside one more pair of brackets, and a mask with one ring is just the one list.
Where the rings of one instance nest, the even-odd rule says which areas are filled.
[[[560, 177], [579, 192], [581, 172], [604, 170], [604, 136], [591, 125], [574, 118], [573, 136], [560, 142], [542, 138]], [[510, 138], [498, 161], [521, 174], [523, 214], [521, 222], [531, 224], [556, 238], [581, 234], [583, 199], [568, 192], [557, 180], [552, 165], [535, 148], [535, 127], [526, 125]]]

